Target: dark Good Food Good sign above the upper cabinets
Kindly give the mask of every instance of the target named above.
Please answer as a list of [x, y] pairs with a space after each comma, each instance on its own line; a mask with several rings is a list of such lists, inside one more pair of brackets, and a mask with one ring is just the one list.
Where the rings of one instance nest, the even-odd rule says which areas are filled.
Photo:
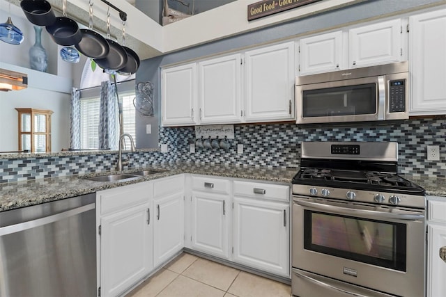
[[321, 0], [263, 0], [248, 5], [248, 21]]

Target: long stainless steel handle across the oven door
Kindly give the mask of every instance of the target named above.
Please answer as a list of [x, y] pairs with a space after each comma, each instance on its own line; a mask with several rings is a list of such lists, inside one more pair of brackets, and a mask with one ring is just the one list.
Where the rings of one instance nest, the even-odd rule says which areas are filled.
[[294, 200], [294, 203], [299, 204], [302, 207], [311, 207], [312, 209], [328, 211], [334, 214], [346, 214], [346, 215], [367, 215], [374, 216], [374, 218], [390, 218], [397, 220], [422, 220], [424, 215], [422, 214], [394, 214], [391, 212], [374, 211], [367, 209], [354, 209], [346, 207], [337, 207], [335, 205], [321, 204], [318, 202], [309, 202], [302, 200]]

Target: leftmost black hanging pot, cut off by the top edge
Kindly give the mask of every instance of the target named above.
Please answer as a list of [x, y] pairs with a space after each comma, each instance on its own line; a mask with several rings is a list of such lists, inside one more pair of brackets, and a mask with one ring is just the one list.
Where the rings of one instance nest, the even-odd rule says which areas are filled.
[[20, 7], [26, 19], [37, 26], [49, 26], [56, 21], [51, 4], [46, 0], [22, 0]]

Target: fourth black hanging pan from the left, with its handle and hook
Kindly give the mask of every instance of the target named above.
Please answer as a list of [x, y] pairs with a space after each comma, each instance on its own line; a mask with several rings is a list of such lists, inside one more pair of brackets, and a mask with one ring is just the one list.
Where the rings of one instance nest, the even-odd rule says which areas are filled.
[[127, 52], [118, 42], [114, 42], [110, 39], [110, 13], [107, 12], [107, 40], [110, 50], [105, 58], [94, 59], [95, 63], [98, 64], [104, 70], [119, 70], [125, 66], [128, 57]]

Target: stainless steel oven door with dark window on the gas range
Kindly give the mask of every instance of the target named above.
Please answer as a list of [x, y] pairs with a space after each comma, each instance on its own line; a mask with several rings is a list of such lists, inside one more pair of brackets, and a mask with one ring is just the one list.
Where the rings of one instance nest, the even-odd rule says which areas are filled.
[[[295, 196], [293, 268], [397, 296], [424, 296], [424, 230], [424, 210]], [[294, 287], [293, 294], [300, 296]]]

